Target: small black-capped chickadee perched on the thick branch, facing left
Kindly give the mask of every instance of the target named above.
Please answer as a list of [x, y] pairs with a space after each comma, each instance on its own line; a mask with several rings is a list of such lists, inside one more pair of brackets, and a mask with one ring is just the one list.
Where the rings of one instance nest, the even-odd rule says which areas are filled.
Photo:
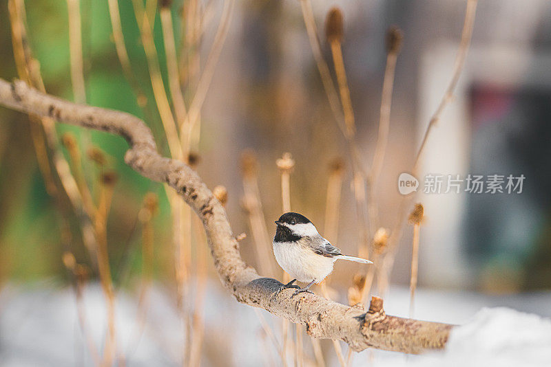
[[[340, 249], [323, 238], [312, 222], [302, 214], [285, 213], [275, 221], [275, 224], [278, 225], [273, 238], [275, 260], [278, 260], [280, 267], [294, 278], [279, 291], [296, 288], [293, 296], [301, 292], [310, 292], [308, 289], [311, 285], [320, 283], [331, 274], [336, 260], [373, 264], [364, 258], [341, 254]], [[293, 285], [297, 280], [308, 285], [304, 288]]]

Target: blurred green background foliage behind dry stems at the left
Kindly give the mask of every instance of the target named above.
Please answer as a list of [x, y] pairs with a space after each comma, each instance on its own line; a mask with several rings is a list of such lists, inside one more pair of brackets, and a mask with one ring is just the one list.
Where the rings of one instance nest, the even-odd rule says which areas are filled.
[[[106, 1], [82, 1], [83, 14], [83, 56], [86, 78], [87, 103], [110, 109], [127, 111], [147, 120], [152, 126], [159, 146], [163, 149], [162, 128], [158, 115], [152, 113], [145, 118], [143, 110], [136, 102], [134, 91], [121, 72], [121, 65], [112, 42], [112, 30]], [[4, 78], [16, 78], [14, 68], [10, 20], [6, 3], [0, 12], [0, 40], [3, 52], [1, 69]], [[67, 3], [65, 1], [38, 1], [27, 7], [28, 32], [34, 57], [39, 60], [41, 74], [48, 92], [72, 100], [70, 78], [69, 36], [67, 26]], [[176, 20], [178, 16], [174, 17]], [[121, 21], [127, 37], [127, 49], [136, 69], [136, 78], [147, 86], [149, 74], [143, 47], [139, 42], [139, 32], [132, 10], [132, 3], [121, 2]], [[178, 23], [176, 23], [178, 24]], [[156, 29], [156, 42], [162, 42], [160, 31]], [[164, 55], [160, 52], [160, 63]], [[163, 70], [164, 71], [164, 70]], [[144, 88], [148, 100], [152, 100], [150, 88]], [[59, 228], [59, 211], [45, 190], [36, 159], [33, 158], [32, 140], [28, 128], [28, 118], [10, 111], [2, 111], [3, 120], [14, 124], [3, 124], [3, 154], [0, 168], [0, 242], [3, 256], [2, 273], [15, 280], [40, 280], [48, 277], [65, 278], [66, 271], [61, 261], [63, 246]], [[108, 225], [108, 238], [113, 264], [127, 259], [129, 266], [136, 267], [141, 254], [138, 231], [138, 210], [143, 196], [148, 190], [158, 192], [160, 201], [158, 220], [158, 241], [168, 241], [163, 222], [169, 222], [169, 208], [163, 190], [156, 183], [138, 175], [123, 161], [127, 146], [121, 137], [91, 131], [83, 144], [83, 131], [74, 126], [57, 124], [59, 135], [69, 132], [79, 140], [83, 152], [84, 168], [88, 181], [97, 188], [99, 169], [85, 152], [90, 146], [97, 146], [109, 156], [110, 169], [118, 173], [113, 212]], [[6, 148], [4, 144], [13, 142]], [[65, 150], [64, 150], [65, 151]], [[166, 154], [166, 152], [165, 152]], [[65, 151], [65, 155], [68, 155]], [[97, 194], [97, 192], [96, 192]], [[169, 227], [168, 227], [169, 228]], [[76, 232], [78, 234], [78, 232]], [[167, 236], [167, 238], [163, 238]], [[78, 235], [74, 236], [76, 258], [83, 262], [87, 254]], [[80, 245], [79, 245], [80, 244]], [[163, 249], [159, 247], [159, 253]], [[80, 251], [79, 251], [80, 249]], [[163, 267], [161, 267], [162, 269]], [[114, 278], [120, 274], [120, 267], [114, 266]]]

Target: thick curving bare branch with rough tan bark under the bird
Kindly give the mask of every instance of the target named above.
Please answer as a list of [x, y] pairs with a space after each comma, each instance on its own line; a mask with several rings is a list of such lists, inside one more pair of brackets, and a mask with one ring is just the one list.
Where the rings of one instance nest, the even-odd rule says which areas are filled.
[[202, 220], [214, 265], [222, 284], [242, 303], [260, 307], [306, 326], [313, 337], [343, 340], [353, 351], [372, 347], [402, 353], [443, 348], [449, 324], [386, 315], [382, 299], [374, 297], [365, 310], [332, 302], [310, 293], [291, 298], [293, 289], [275, 292], [282, 283], [262, 278], [241, 259], [225, 209], [194, 170], [183, 162], [161, 157], [145, 123], [128, 113], [74, 104], [41, 93], [24, 82], [0, 79], [0, 105], [59, 122], [121, 135], [130, 148], [125, 162], [141, 175], [168, 183]]

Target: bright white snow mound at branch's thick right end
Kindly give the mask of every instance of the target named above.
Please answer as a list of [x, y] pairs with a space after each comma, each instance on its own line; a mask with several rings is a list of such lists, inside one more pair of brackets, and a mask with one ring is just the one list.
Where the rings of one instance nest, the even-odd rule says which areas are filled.
[[452, 329], [445, 351], [389, 357], [375, 366], [548, 367], [551, 320], [505, 307], [483, 308], [470, 322]]

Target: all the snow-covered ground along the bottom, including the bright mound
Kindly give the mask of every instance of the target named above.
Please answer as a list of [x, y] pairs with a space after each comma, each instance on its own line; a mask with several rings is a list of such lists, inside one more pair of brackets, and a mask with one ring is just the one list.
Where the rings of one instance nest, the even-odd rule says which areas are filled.
[[[87, 287], [83, 300], [88, 334], [101, 346], [105, 337], [101, 288]], [[136, 304], [134, 295], [118, 293], [116, 329], [126, 365], [180, 365], [183, 326], [174, 300], [162, 287], [152, 289], [143, 332]], [[238, 304], [217, 282], [209, 283], [205, 305], [202, 366], [262, 366], [270, 360], [278, 365], [251, 307]], [[392, 288], [385, 296], [388, 314], [406, 317], [408, 307], [406, 288]], [[279, 336], [278, 319], [260, 313]], [[354, 356], [353, 366], [550, 366], [551, 321], [545, 319], [550, 317], [551, 292], [498, 297], [419, 289], [415, 318], [462, 325], [453, 330], [446, 351], [422, 356], [363, 351]], [[310, 348], [307, 338], [304, 345]], [[332, 344], [323, 341], [322, 347], [328, 366], [337, 366]], [[343, 348], [346, 353], [344, 344]], [[0, 293], [0, 366], [74, 365], [93, 366], [93, 362], [82, 337], [72, 289], [45, 284], [4, 287]]]

